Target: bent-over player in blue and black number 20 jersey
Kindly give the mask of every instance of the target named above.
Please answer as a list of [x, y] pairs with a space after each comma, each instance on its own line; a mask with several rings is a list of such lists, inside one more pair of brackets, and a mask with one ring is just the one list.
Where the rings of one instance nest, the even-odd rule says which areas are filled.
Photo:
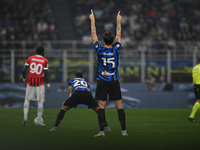
[[[54, 127], [50, 131], [57, 131], [57, 128], [62, 121], [66, 111], [72, 107], [77, 107], [79, 104], [87, 105], [98, 113], [99, 107], [90, 92], [90, 85], [83, 78], [81, 72], [77, 72], [72, 80], [68, 83], [69, 98], [63, 103], [60, 112], [57, 115]], [[106, 131], [110, 131], [108, 126], [105, 126]]]

